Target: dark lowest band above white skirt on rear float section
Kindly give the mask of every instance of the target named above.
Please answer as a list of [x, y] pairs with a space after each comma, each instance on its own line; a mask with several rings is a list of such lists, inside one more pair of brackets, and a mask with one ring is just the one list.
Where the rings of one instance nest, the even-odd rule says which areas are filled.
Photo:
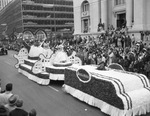
[[30, 73], [30, 74], [32, 74], [34, 76], [37, 76], [38, 78], [49, 79], [49, 74], [41, 74], [41, 73], [34, 74], [30, 69], [28, 69], [28, 68], [26, 68], [26, 67], [24, 67], [22, 65], [19, 65], [19, 68], [22, 69], [22, 70], [24, 70], [24, 71], [27, 71], [28, 73]]

